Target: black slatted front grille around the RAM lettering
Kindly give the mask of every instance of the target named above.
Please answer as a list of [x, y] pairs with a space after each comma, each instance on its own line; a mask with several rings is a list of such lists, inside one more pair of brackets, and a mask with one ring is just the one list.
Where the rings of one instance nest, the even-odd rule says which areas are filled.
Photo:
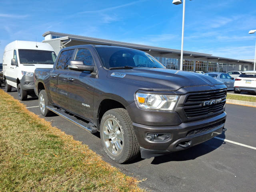
[[[184, 104], [184, 112], [187, 118], [199, 118], [210, 116], [223, 111], [226, 103], [226, 90], [215, 90], [188, 94]], [[204, 102], [221, 100], [219, 103], [204, 105]]]

